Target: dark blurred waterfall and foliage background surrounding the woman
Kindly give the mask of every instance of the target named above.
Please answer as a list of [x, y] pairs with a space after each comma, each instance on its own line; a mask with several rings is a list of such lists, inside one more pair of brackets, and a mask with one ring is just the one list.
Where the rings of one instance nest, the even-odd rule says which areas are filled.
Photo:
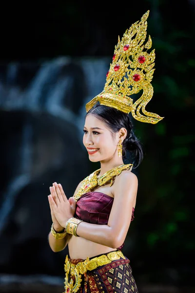
[[47, 195], [69, 198], [90, 172], [85, 104], [100, 93], [118, 36], [150, 10], [154, 96], [135, 120], [144, 146], [123, 248], [139, 293], [195, 293], [195, 0], [1, 4], [0, 292], [62, 293], [68, 252], [48, 244]]

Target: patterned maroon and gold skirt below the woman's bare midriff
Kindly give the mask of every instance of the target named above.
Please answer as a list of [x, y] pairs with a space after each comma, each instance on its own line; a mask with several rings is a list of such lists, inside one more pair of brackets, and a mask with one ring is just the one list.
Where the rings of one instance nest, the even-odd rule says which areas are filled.
[[[117, 252], [120, 253], [118, 259], [90, 270], [83, 269], [87, 260], [67, 257], [64, 265], [66, 272], [64, 293], [138, 293], [130, 260], [121, 251]], [[109, 253], [88, 258], [88, 261], [102, 256], [109, 257]]]

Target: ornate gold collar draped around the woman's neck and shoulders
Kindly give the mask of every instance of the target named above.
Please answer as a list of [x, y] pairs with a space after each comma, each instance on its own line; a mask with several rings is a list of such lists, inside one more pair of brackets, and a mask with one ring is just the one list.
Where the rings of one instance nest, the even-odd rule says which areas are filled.
[[131, 171], [132, 167], [133, 164], [123, 164], [107, 171], [100, 177], [98, 177], [100, 169], [94, 171], [82, 181], [81, 187], [78, 189], [78, 192], [74, 196], [74, 199], [77, 201], [84, 193], [91, 191], [91, 189], [95, 187], [104, 185], [109, 180], [111, 180], [110, 186], [112, 186], [113, 178], [115, 176], [119, 175], [123, 170]]

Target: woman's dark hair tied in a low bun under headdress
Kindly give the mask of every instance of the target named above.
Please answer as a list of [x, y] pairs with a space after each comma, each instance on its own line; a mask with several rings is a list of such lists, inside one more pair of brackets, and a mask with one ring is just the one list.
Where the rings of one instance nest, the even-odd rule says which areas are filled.
[[122, 142], [122, 157], [124, 160], [133, 163], [134, 168], [138, 167], [143, 159], [143, 150], [141, 143], [134, 134], [133, 124], [129, 115], [115, 108], [99, 104], [91, 108], [87, 114], [93, 114], [100, 121], [105, 123], [106, 126], [111, 129], [112, 134], [119, 131], [122, 127], [127, 129], [127, 136]]

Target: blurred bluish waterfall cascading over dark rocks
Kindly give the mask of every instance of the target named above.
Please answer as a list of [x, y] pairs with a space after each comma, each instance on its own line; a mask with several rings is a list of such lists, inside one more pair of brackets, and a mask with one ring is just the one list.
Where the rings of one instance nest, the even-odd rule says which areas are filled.
[[[56, 119], [61, 119], [64, 125], [72, 125], [78, 129], [78, 139], [84, 150], [82, 127], [86, 114], [85, 104], [102, 91], [108, 64], [107, 58], [71, 59], [69, 57], [37, 64], [1, 64], [0, 110], [5, 113], [24, 112], [26, 117], [28, 113], [40, 116], [42, 113], [48, 113]], [[13, 120], [13, 123], [16, 122]], [[20, 142], [16, 141], [16, 145], [20, 144], [17, 168], [8, 178], [1, 195], [0, 232], [9, 220], [9, 214], [14, 209], [20, 190], [31, 181], [32, 137], [36, 136], [36, 133], [28, 118], [24, 119], [21, 128], [21, 135], [18, 138]], [[12, 135], [14, 133], [7, 133], [7, 137]], [[5, 164], [10, 164], [9, 160]], [[11, 167], [9, 165], [8, 168]]]

